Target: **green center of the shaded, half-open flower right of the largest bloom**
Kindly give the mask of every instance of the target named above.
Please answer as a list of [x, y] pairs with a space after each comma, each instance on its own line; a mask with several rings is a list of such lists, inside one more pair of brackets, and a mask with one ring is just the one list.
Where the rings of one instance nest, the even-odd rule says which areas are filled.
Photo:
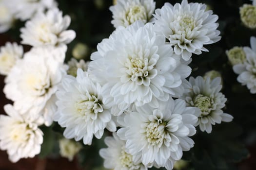
[[208, 115], [211, 112], [213, 101], [202, 94], [198, 94], [194, 99], [194, 106], [198, 107], [203, 116]]

